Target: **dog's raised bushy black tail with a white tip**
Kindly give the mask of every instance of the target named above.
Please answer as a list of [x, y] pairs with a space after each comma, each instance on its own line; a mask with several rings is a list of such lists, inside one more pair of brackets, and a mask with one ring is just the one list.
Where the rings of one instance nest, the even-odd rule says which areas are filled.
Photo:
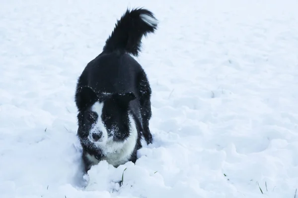
[[122, 50], [135, 56], [141, 51], [141, 40], [148, 33], [154, 33], [158, 20], [147, 9], [135, 8], [127, 10], [106, 40], [103, 51]]

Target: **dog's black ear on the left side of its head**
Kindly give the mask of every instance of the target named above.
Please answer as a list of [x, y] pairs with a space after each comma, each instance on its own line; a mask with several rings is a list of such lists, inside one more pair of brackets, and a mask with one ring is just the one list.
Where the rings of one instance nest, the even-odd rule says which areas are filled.
[[95, 91], [90, 87], [81, 87], [75, 94], [75, 103], [79, 111], [98, 100]]

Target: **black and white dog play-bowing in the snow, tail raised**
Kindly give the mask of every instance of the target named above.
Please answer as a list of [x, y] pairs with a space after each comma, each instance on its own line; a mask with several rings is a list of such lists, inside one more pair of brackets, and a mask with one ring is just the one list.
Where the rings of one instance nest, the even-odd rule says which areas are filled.
[[138, 56], [142, 37], [154, 33], [157, 23], [147, 9], [127, 10], [103, 51], [78, 78], [77, 135], [86, 172], [100, 160], [115, 167], [135, 163], [142, 135], [147, 144], [152, 143], [151, 88], [142, 66], [131, 55]]

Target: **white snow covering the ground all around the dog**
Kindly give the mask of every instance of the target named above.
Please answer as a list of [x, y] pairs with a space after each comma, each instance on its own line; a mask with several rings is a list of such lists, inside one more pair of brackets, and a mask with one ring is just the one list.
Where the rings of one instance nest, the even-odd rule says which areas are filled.
[[[75, 83], [116, 19], [138, 6], [159, 20], [137, 58], [152, 86], [153, 144], [139, 150], [136, 165], [102, 161], [83, 177]], [[2, 1], [0, 197], [294, 198], [297, 7], [296, 0]]]

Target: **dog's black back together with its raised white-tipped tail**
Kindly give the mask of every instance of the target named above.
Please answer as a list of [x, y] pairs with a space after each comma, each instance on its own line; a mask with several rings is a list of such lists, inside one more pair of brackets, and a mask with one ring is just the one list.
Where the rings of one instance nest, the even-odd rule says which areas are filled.
[[127, 10], [117, 21], [102, 53], [85, 67], [79, 84], [92, 87], [97, 92], [138, 94], [135, 90], [136, 78], [144, 71], [130, 54], [139, 55], [142, 37], [153, 33], [156, 27], [157, 20], [149, 10]]

